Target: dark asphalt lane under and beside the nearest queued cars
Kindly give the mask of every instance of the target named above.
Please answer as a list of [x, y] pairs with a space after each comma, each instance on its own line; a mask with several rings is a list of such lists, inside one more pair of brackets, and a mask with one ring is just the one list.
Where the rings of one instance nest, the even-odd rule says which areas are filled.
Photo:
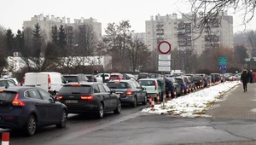
[[[131, 118], [134, 114], [142, 110], [145, 105], [137, 107], [124, 106], [120, 114], [107, 113], [103, 119], [95, 119], [94, 117], [69, 114], [67, 127], [57, 129], [55, 125], [45, 127], [37, 132], [35, 136], [23, 136], [21, 132], [10, 131], [9, 142], [11, 145], [45, 145], [54, 144], [53, 142], [63, 141], [64, 139], [72, 140], [76, 136], [83, 135], [90, 131], [96, 131], [108, 125], [117, 124], [122, 120]], [[0, 132], [9, 131], [1, 130]], [[0, 136], [1, 137], [1, 136]], [[1, 144], [1, 143], [0, 143]], [[84, 144], [84, 143], [82, 143]]]

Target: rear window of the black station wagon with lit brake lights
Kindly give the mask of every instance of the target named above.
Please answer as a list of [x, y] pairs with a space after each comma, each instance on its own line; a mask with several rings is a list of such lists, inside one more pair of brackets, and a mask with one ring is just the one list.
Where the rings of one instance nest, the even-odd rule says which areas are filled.
[[59, 91], [61, 94], [90, 94], [91, 86], [63, 86]]

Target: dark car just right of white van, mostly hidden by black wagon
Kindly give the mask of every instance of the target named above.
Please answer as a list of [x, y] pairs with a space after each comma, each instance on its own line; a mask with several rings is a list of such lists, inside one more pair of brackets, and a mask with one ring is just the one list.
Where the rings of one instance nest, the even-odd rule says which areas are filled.
[[89, 82], [89, 79], [82, 73], [79, 74], [63, 74], [63, 77], [68, 83], [83, 83]]

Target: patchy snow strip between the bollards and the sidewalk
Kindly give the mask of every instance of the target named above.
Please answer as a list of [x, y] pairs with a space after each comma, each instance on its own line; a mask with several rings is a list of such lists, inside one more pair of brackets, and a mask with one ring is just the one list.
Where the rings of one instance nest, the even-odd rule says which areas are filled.
[[159, 105], [155, 104], [154, 108], [148, 107], [143, 109], [142, 112], [180, 115], [191, 118], [199, 116], [210, 117], [204, 114], [207, 109], [237, 84], [241, 83], [239, 81], [233, 81], [217, 84], [186, 96], [177, 97], [176, 99], [172, 99], [172, 101], [167, 101], [165, 102], [165, 106], [163, 106], [163, 103]]

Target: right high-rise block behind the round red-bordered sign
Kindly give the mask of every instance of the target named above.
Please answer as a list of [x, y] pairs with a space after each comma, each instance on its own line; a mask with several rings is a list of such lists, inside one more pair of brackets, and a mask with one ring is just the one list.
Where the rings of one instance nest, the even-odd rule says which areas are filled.
[[[175, 69], [189, 72], [189, 57], [192, 54], [201, 55], [206, 49], [233, 48], [233, 17], [223, 12], [217, 19], [208, 21], [203, 29], [196, 30], [195, 26], [200, 22], [193, 21], [195, 15], [182, 14], [177, 18], [177, 14], [160, 14], [151, 16], [151, 20], [146, 20], [146, 44], [152, 50], [153, 58], [157, 63], [158, 45], [161, 41], [171, 44], [172, 50], [176, 49], [177, 61]], [[199, 19], [199, 18], [198, 18]], [[201, 31], [201, 32], [200, 32]], [[173, 58], [173, 56], [172, 56]], [[154, 64], [157, 66], [157, 64]], [[154, 68], [156, 69], [156, 68]]]

